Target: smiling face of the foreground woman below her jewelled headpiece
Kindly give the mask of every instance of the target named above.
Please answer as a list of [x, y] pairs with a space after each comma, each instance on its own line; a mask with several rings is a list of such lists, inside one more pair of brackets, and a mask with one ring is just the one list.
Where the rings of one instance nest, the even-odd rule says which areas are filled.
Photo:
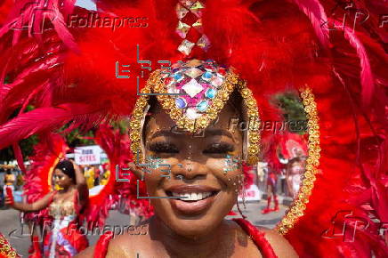
[[[243, 136], [230, 130], [238, 118], [228, 104], [201, 135], [177, 132], [174, 121], [157, 107], [145, 128], [144, 173], [158, 217], [175, 233], [199, 237], [214, 230], [237, 201], [243, 183]], [[185, 198], [182, 198], [185, 197]]]

